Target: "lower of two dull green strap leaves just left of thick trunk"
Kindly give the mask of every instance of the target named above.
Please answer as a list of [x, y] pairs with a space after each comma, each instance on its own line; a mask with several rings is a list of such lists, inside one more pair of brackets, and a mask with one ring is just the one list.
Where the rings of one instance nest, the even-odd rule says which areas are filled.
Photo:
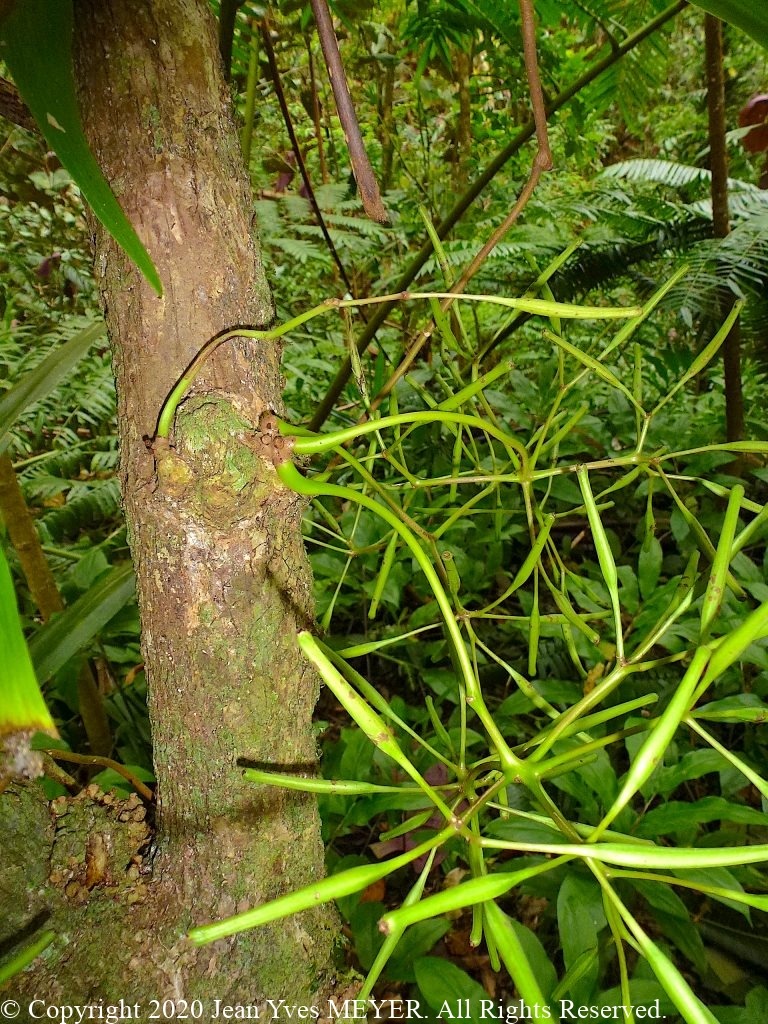
[[50, 679], [85, 647], [133, 597], [134, 588], [133, 566], [121, 565], [38, 630], [30, 641], [38, 678]]

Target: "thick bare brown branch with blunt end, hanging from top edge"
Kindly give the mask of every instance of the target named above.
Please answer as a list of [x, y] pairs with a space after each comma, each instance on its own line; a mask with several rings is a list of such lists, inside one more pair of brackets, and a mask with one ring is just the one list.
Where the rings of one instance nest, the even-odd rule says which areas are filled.
[[372, 220], [379, 224], [388, 224], [389, 217], [384, 208], [379, 193], [379, 185], [376, 181], [371, 161], [368, 159], [366, 146], [357, 124], [357, 115], [354, 113], [352, 97], [349, 94], [347, 78], [344, 74], [344, 67], [339, 53], [339, 43], [334, 32], [331, 12], [328, 9], [326, 0], [312, 0], [312, 13], [317, 26], [323, 55], [326, 58], [328, 75], [331, 79], [331, 88], [334, 91], [336, 110], [339, 112], [341, 127], [344, 129], [344, 138], [349, 151], [349, 159], [352, 163], [352, 173], [357, 182], [357, 188], [362, 200], [362, 208]]

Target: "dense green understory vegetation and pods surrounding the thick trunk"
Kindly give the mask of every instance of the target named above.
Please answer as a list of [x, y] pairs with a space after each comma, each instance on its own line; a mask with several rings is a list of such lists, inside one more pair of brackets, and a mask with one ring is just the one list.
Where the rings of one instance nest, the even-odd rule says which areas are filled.
[[[536, 8], [550, 102], [662, 10]], [[424, 1019], [572, 1000], [751, 1024], [768, 1014], [768, 191], [738, 114], [767, 51], [726, 28], [727, 237], [686, 7], [551, 115], [553, 170], [452, 298], [529, 171], [534, 143], [442, 229], [528, 119], [517, 5], [334, 12], [388, 224], [361, 210], [310, 9], [243, 4], [231, 65], [275, 324], [348, 300], [286, 334], [276, 411], [296, 454], [278, 471], [307, 502], [322, 777], [244, 769], [317, 794], [329, 874], [191, 939], [322, 892], [358, 997]], [[41, 138], [2, 125], [0, 516], [59, 733], [35, 740], [39, 784], [151, 806], [85, 212]]]

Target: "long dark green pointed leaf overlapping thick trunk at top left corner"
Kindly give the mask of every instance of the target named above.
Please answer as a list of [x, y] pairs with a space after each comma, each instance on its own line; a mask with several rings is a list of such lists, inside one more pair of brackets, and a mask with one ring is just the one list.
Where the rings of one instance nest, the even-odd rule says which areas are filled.
[[72, 71], [72, 0], [15, 0], [0, 22], [0, 58], [40, 131], [83, 198], [158, 295], [158, 271], [112, 193], [83, 134]]

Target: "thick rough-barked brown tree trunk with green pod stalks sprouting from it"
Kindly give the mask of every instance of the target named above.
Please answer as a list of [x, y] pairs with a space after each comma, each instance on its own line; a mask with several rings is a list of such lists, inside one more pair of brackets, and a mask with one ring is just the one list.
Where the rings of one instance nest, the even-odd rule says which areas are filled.
[[[272, 315], [214, 27], [205, 0], [79, 0], [76, 19], [86, 133], [164, 287], [158, 298], [96, 230], [150, 691], [157, 853], [130, 916], [114, 894], [94, 909], [91, 890], [80, 911], [88, 931], [54, 944], [46, 970], [68, 1001], [309, 1004], [328, 971], [330, 912], [202, 949], [183, 938], [194, 924], [323, 872], [313, 800], [249, 785], [238, 766], [311, 770], [316, 761], [317, 682], [295, 640], [311, 618], [301, 507], [246, 443], [260, 415], [280, 409], [276, 347], [222, 345], [179, 410], [174, 446], [153, 451], [150, 440], [201, 345]], [[39, 996], [40, 984], [27, 990]]]

